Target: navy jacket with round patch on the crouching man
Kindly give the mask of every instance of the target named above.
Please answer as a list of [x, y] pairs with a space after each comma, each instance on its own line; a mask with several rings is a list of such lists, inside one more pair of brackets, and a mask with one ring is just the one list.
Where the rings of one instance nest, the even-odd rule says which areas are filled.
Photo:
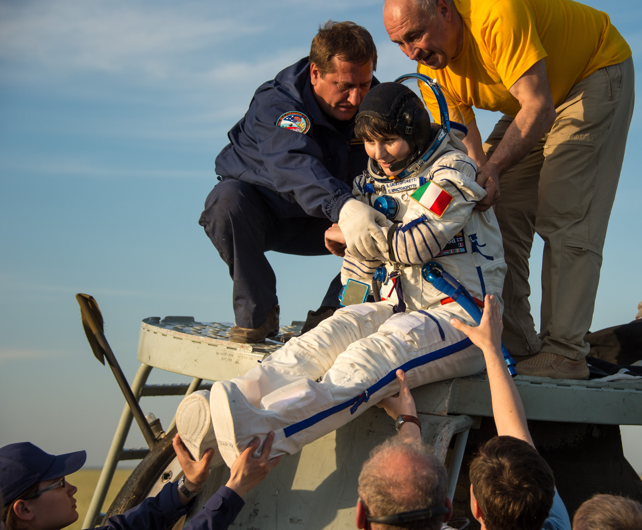
[[[372, 78], [372, 85], [379, 82]], [[306, 134], [277, 126], [286, 112], [302, 112]], [[326, 217], [337, 222], [352, 197], [352, 181], [368, 156], [354, 139], [354, 118], [343, 134], [315, 100], [308, 57], [261, 85], [245, 117], [227, 134], [230, 143], [216, 157], [216, 174], [262, 186], [275, 215]]]

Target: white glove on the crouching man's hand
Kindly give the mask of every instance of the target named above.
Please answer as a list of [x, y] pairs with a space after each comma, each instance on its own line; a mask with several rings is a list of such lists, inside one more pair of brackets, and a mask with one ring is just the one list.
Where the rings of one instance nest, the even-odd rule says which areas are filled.
[[339, 213], [347, 249], [358, 260], [374, 260], [388, 252], [388, 242], [381, 231], [385, 226], [386, 216], [360, 200], [347, 200]]

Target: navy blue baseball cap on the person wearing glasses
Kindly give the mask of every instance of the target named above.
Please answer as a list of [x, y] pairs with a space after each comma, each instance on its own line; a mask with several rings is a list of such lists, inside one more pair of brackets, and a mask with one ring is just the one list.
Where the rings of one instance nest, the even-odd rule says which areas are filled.
[[36, 482], [57, 479], [78, 471], [85, 460], [85, 451], [56, 456], [30, 442], [5, 445], [0, 448], [0, 492], [4, 506], [16, 500], [22, 491]]

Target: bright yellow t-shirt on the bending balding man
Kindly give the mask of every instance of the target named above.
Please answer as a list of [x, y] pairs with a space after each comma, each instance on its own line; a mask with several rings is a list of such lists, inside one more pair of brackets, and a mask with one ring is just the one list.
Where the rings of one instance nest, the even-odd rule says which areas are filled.
[[[444, 69], [420, 64], [417, 71], [446, 87], [466, 123], [473, 106], [516, 116], [521, 107], [508, 89], [541, 58], [557, 107], [582, 79], [631, 55], [609, 15], [572, 0], [454, 1], [464, 22], [462, 51]], [[439, 121], [431, 90], [421, 86]]]

